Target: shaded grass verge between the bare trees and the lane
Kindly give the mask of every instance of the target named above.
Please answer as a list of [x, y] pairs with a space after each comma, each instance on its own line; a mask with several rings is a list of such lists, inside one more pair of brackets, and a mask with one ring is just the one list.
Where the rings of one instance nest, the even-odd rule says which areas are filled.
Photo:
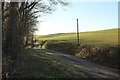
[[40, 50], [27, 49], [14, 78], [88, 78], [78, 68]]

